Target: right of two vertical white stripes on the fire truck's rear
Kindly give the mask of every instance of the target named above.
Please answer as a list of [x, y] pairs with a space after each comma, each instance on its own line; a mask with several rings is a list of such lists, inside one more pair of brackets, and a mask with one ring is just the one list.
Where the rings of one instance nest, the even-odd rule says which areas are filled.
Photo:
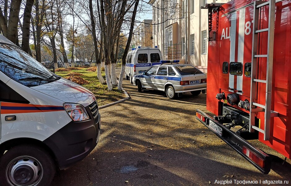
[[[244, 64], [244, 47], [245, 47], [245, 9], [241, 9], [239, 11], [239, 24], [238, 24], [237, 62], [241, 62], [242, 64]], [[243, 75], [237, 76], [238, 91], [242, 91], [242, 78]], [[237, 92], [237, 94], [242, 95], [241, 92]]]

